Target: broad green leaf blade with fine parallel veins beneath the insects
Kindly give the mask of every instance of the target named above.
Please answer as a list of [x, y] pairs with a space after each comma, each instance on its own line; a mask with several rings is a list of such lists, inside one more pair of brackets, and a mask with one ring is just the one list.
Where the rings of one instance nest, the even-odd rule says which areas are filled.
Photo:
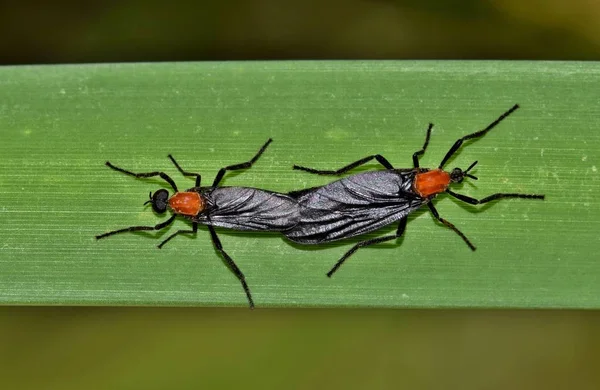
[[[334, 178], [292, 164], [334, 169], [380, 153], [436, 167], [459, 137], [513, 104], [521, 109], [468, 142], [448, 168], [478, 160], [478, 181], [456, 191], [541, 193], [545, 201], [485, 207], [440, 196], [440, 215], [478, 247], [471, 252], [426, 209], [397, 243], [360, 249], [325, 273], [359, 239], [322, 246], [278, 234], [219, 229], [256, 305], [394, 307], [600, 307], [600, 106], [597, 63], [228, 62], [0, 68], [0, 303], [246, 305], [206, 228], [94, 236], [165, 218], [142, 204], [166, 187], [104, 166], [164, 170], [192, 187], [173, 154], [210, 183], [289, 191]], [[368, 164], [365, 169], [381, 169]], [[377, 235], [390, 234], [395, 226]], [[372, 237], [370, 235], [368, 237]], [[363, 239], [364, 237], [361, 237]]]

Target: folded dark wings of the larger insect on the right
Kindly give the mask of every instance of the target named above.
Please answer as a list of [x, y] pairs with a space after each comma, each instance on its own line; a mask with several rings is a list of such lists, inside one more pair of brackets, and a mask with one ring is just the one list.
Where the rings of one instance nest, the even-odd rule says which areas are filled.
[[294, 192], [300, 222], [284, 234], [294, 242], [319, 244], [398, 221], [427, 202], [412, 191], [414, 175], [414, 171], [365, 172]]

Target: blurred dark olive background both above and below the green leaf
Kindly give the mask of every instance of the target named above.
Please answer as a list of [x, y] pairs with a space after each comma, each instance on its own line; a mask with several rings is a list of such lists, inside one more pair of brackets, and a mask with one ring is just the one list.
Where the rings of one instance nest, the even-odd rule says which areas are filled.
[[[0, 64], [600, 58], [587, 0], [0, 2]], [[6, 389], [597, 389], [596, 311], [0, 308]]]

